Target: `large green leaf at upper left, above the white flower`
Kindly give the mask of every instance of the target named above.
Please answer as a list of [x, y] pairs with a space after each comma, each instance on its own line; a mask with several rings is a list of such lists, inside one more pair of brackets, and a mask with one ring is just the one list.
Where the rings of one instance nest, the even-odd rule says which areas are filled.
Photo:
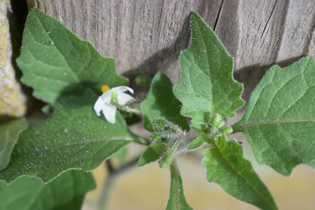
[[104, 84], [127, 84], [112, 58], [102, 57], [89, 42], [37, 9], [27, 17], [17, 62], [22, 82], [34, 88], [36, 98], [51, 104], [60, 94], [80, 95], [87, 88], [101, 94]]

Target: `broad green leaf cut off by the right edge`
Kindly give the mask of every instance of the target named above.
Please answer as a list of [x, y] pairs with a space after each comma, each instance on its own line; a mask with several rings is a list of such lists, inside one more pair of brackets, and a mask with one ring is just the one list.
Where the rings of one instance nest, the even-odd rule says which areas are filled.
[[232, 128], [246, 135], [260, 164], [290, 176], [298, 164], [315, 160], [314, 104], [315, 64], [307, 56], [287, 68], [273, 66]]

